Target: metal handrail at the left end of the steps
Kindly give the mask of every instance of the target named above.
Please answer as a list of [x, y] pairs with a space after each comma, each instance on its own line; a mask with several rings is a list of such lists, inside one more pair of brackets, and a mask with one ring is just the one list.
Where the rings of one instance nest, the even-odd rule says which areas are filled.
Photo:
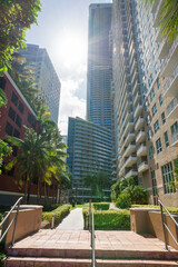
[[13, 205], [13, 207], [11, 208], [11, 210], [7, 214], [7, 216], [3, 218], [3, 220], [0, 224], [0, 227], [4, 224], [4, 221], [9, 218], [9, 216], [11, 215], [11, 212], [17, 208], [17, 214], [13, 217], [13, 219], [10, 221], [9, 226], [7, 227], [7, 229], [4, 230], [3, 235], [0, 238], [0, 243], [3, 240], [4, 236], [7, 235], [8, 230], [10, 229], [10, 227], [12, 226], [13, 221], [14, 221], [14, 227], [13, 227], [13, 234], [12, 234], [12, 243], [11, 246], [13, 246], [14, 244], [14, 234], [16, 234], [16, 227], [17, 227], [17, 220], [18, 220], [18, 214], [19, 214], [19, 207], [20, 207], [20, 201], [23, 199], [23, 197], [20, 197], [17, 202]]

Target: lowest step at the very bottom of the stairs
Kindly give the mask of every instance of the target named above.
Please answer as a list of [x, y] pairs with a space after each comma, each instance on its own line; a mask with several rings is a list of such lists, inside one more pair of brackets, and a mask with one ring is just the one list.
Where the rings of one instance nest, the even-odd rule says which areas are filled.
[[[90, 259], [73, 258], [30, 258], [8, 257], [4, 267], [91, 267]], [[97, 267], [175, 267], [178, 263], [172, 260], [141, 260], [141, 259], [117, 259], [96, 260]]]

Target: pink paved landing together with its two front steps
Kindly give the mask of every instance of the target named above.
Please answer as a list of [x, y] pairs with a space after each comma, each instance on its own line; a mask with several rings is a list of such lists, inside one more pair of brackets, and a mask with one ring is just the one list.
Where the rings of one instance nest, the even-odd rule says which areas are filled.
[[[4, 267], [91, 267], [90, 233], [40, 230], [8, 248]], [[178, 250], [132, 231], [96, 231], [97, 267], [178, 266]]]

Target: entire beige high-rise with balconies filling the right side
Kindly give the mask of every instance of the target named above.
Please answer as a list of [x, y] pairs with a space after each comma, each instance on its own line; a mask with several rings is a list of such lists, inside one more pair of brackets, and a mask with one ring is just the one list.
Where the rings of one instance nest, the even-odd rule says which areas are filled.
[[155, 1], [147, 12], [141, 1], [113, 0], [117, 177], [136, 177], [151, 204], [176, 206], [178, 40], [161, 39], [161, 7]]

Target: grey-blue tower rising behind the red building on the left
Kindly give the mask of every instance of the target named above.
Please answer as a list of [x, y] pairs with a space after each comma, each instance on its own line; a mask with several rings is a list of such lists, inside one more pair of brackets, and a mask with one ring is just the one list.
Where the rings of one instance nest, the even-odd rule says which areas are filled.
[[42, 92], [41, 97], [49, 107], [51, 119], [58, 125], [61, 83], [47, 50], [36, 44], [27, 44], [20, 53], [33, 68], [38, 88]]

